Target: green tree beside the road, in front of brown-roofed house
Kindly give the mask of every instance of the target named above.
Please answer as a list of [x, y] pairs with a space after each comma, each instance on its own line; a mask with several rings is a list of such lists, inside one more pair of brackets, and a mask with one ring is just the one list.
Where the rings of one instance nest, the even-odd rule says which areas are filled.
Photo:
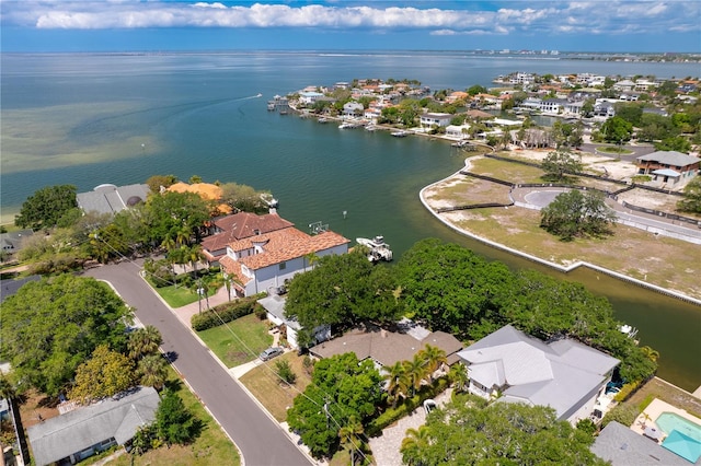
[[384, 396], [381, 381], [372, 362], [358, 362], [355, 353], [322, 359], [314, 364], [311, 384], [287, 411], [290, 431], [299, 433], [315, 458], [332, 456], [342, 428], [365, 424], [376, 413]]

